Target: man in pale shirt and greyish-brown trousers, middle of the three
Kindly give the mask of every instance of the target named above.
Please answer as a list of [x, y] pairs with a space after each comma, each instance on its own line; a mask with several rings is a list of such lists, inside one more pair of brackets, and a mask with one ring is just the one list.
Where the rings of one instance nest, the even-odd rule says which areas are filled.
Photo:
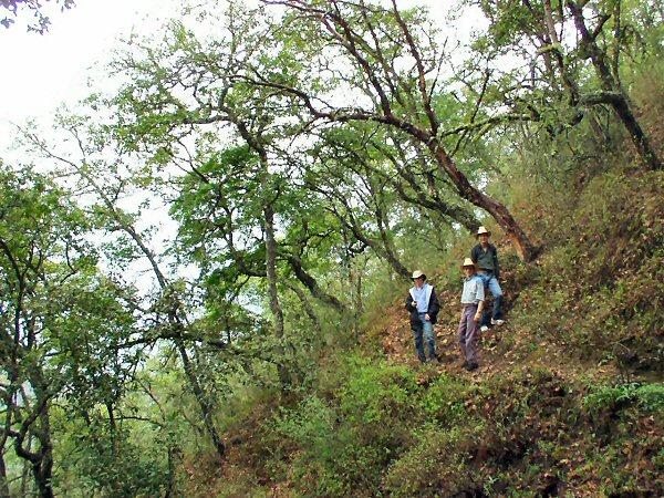
[[459, 320], [459, 345], [464, 355], [464, 369], [471, 372], [477, 363], [478, 325], [484, 309], [484, 282], [477, 274], [475, 263], [466, 258], [461, 264], [464, 270], [464, 289], [461, 291], [461, 319]]

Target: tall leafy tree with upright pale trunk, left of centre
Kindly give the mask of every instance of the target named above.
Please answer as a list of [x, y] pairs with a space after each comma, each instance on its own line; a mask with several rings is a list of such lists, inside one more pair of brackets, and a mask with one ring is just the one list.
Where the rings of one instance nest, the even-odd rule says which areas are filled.
[[[282, 141], [292, 136], [291, 129], [299, 116], [293, 115], [288, 98], [279, 98], [269, 89], [231, 77], [248, 59], [262, 60], [270, 71], [281, 71], [279, 64], [283, 61], [270, 61], [263, 45], [266, 30], [272, 27], [256, 11], [242, 12], [237, 6], [230, 6], [226, 18], [219, 22], [225, 23], [225, 38], [203, 40], [184, 24], [173, 23], [162, 46], [146, 43], [137, 54], [134, 45], [134, 53], [127, 52], [116, 62], [123, 72], [133, 74], [133, 82], [115, 100], [122, 123], [118, 135], [127, 144], [146, 146], [159, 157], [160, 167], [185, 165], [201, 189], [215, 187], [218, 176], [231, 179], [235, 172], [226, 172], [227, 167], [246, 168], [242, 174], [246, 187], [251, 190], [243, 198], [237, 199], [236, 193], [220, 186], [212, 190], [216, 207], [228, 209], [220, 220], [221, 226], [215, 227], [216, 236], [217, 240], [224, 241], [225, 247], [220, 249], [228, 255], [239, 274], [264, 279], [272, 330], [280, 342], [284, 338], [283, 310], [279, 302], [279, 284], [284, 276], [280, 272], [292, 271], [291, 274], [314, 297], [340, 311], [344, 307], [338, 298], [323, 291], [307, 271], [305, 261], [289, 253], [276, 237], [276, 219], [283, 216], [282, 224], [291, 225], [289, 216], [297, 210], [290, 201], [299, 203], [301, 197], [290, 196], [293, 191], [290, 159], [281, 154]], [[294, 72], [292, 75], [295, 77]], [[229, 133], [227, 141], [217, 138]], [[187, 141], [197, 141], [197, 151], [206, 152], [189, 154]], [[215, 147], [228, 152], [246, 147], [247, 160], [241, 165], [221, 162], [222, 154], [210, 152]], [[201, 174], [201, 168], [206, 173]], [[238, 212], [247, 215], [241, 220], [236, 220], [234, 203], [239, 203]], [[260, 240], [249, 237], [238, 247], [237, 230], [253, 234], [242, 224], [255, 225], [257, 221]], [[256, 245], [256, 248], [246, 243]], [[284, 365], [280, 365], [279, 371], [287, 384]]]

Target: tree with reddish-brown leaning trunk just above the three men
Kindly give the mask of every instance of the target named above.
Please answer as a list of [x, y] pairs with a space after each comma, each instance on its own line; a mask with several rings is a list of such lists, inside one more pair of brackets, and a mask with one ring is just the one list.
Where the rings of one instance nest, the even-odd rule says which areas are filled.
[[[468, 180], [445, 145], [445, 137], [463, 132], [464, 127], [443, 127], [445, 115], [436, 108], [433, 95], [439, 89], [444, 60], [424, 22], [414, 18], [416, 14], [402, 14], [395, 2], [392, 10], [349, 1], [266, 0], [266, 3], [289, 9], [279, 31], [282, 39], [274, 43], [283, 50], [297, 44], [300, 52], [291, 56], [297, 56], [311, 74], [324, 74], [340, 60], [347, 62], [351, 70], [335, 69], [334, 79], [314, 80], [309, 87], [257, 65], [238, 77], [293, 97], [313, 122], [378, 123], [393, 128], [401, 139], [416, 141], [458, 196], [496, 219], [523, 260], [537, 257], [539, 249], [509, 210]], [[283, 37], [290, 38], [287, 41]], [[322, 91], [330, 87], [361, 93], [374, 105], [333, 104], [331, 92]]]

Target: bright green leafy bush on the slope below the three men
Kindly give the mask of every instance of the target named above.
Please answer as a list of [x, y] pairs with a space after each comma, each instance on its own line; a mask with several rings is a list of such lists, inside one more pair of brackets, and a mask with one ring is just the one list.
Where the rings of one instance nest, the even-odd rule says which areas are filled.
[[273, 429], [291, 445], [290, 480], [307, 496], [376, 489], [418, 418], [418, 386], [405, 366], [352, 356], [332, 398], [282, 408]]

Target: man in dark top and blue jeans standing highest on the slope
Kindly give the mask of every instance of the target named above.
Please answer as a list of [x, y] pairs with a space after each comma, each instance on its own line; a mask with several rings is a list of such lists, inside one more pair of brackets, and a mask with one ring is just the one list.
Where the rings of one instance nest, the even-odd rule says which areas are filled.
[[[491, 232], [485, 227], [479, 227], [477, 230], [477, 238], [479, 243], [470, 251], [470, 259], [477, 267], [477, 274], [483, 280], [485, 290], [491, 292], [494, 297], [494, 312], [491, 313], [490, 323], [491, 325], [502, 325], [502, 289], [498, 283], [500, 277], [500, 267], [498, 266], [498, 249], [492, 243], [489, 243], [489, 237]], [[483, 317], [481, 330], [483, 332], [488, 329], [489, 318]]]

